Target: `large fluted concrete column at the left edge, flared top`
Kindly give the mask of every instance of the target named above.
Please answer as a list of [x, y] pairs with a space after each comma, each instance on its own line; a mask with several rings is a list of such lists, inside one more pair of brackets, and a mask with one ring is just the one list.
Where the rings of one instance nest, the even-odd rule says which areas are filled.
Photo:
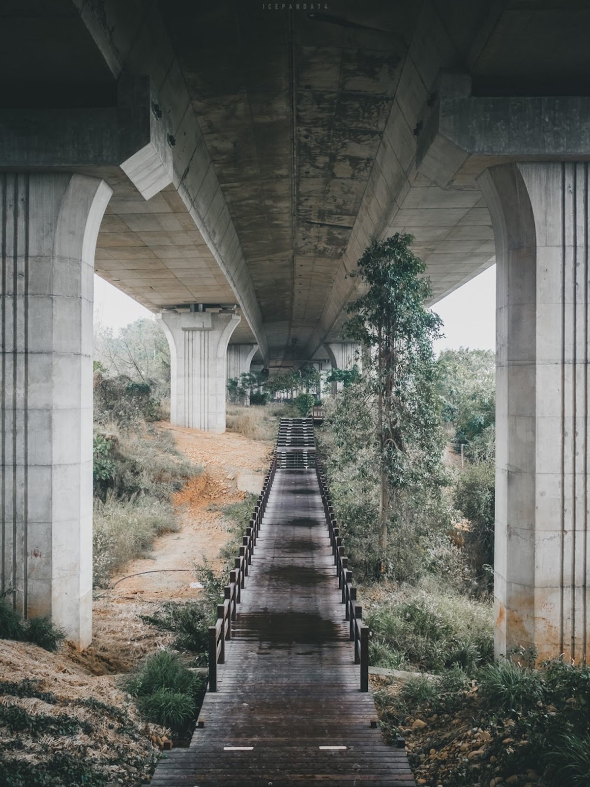
[[0, 175], [2, 591], [92, 638], [94, 248], [112, 191], [86, 176]]

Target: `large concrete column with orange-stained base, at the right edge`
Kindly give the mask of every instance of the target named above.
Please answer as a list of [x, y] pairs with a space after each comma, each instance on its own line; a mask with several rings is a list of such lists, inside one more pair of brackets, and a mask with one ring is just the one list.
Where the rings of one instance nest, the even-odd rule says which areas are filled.
[[588, 656], [588, 164], [503, 164], [496, 235], [496, 654]]

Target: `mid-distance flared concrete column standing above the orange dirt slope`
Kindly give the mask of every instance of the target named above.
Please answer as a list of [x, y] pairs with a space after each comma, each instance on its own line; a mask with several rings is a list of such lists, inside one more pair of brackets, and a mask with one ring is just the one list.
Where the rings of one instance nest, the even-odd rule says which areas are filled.
[[163, 312], [170, 345], [170, 419], [225, 431], [226, 351], [240, 317], [228, 312]]

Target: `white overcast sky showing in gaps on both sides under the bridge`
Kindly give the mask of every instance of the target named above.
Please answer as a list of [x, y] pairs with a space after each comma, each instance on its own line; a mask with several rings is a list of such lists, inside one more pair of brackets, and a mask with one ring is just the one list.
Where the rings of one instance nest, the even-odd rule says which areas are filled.
[[[434, 307], [444, 322], [444, 338], [434, 342], [438, 354], [442, 349], [496, 348], [496, 266], [464, 284]], [[94, 276], [94, 323], [120, 328], [139, 317], [154, 318], [144, 306], [117, 290], [105, 279]]]

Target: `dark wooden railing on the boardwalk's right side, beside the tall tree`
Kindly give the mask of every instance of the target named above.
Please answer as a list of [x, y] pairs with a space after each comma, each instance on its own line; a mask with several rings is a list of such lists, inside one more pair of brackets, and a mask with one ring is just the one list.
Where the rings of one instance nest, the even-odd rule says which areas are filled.
[[363, 623], [363, 608], [356, 604], [356, 588], [352, 587], [352, 571], [348, 570], [348, 558], [342, 546], [334, 508], [326, 486], [326, 477], [319, 463], [315, 465], [319, 491], [322, 494], [326, 525], [330, 534], [330, 545], [334, 554], [334, 564], [338, 577], [338, 587], [342, 590], [342, 603], [345, 604], [346, 620], [350, 622], [350, 641], [354, 642], [355, 663], [360, 664], [360, 690], [369, 690], [369, 628]]

